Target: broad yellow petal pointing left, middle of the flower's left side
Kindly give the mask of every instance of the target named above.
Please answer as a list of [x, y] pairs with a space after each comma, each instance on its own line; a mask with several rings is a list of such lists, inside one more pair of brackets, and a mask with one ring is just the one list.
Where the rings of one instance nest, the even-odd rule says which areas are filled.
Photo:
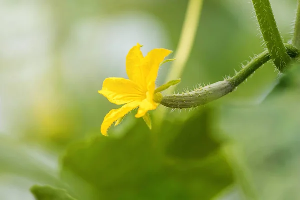
[[136, 83], [125, 78], [106, 78], [103, 82], [102, 90], [98, 92], [117, 105], [132, 101], [142, 101], [145, 98], [141, 88]]

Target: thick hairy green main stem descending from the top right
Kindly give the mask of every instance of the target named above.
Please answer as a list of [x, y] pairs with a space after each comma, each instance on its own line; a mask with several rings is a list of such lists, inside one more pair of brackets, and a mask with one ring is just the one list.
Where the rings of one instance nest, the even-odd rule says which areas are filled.
[[280, 72], [291, 58], [286, 52], [269, 0], [252, 0], [259, 27], [270, 56]]

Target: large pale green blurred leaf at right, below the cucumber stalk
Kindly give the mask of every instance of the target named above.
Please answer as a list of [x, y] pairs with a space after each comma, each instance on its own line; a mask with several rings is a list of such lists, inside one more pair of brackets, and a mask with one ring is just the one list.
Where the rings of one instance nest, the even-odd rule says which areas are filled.
[[[285, 76], [290, 83], [292, 76]], [[259, 199], [300, 199], [300, 87], [288, 85], [260, 105], [222, 112], [222, 127], [235, 143], [228, 157], [236, 177]]]

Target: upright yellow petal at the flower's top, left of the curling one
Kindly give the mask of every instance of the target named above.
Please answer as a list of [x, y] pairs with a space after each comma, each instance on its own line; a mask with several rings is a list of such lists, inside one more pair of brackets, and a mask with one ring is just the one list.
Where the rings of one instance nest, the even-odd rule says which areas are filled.
[[137, 84], [141, 84], [144, 80], [144, 74], [142, 73], [141, 63], [143, 60], [142, 52], [140, 51], [141, 45], [137, 43], [133, 46], [126, 57], [126, 72], [130, 80]]

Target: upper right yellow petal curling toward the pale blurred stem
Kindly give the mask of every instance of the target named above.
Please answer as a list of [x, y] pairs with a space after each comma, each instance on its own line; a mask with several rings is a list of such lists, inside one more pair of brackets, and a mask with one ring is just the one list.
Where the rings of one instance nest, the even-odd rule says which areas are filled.
[[156, 48], [151, 50], [143, 59], [142, 67], [145, 74], [146, 84], [156, 80], [160, 63], [172, 51], [164, 48]]

